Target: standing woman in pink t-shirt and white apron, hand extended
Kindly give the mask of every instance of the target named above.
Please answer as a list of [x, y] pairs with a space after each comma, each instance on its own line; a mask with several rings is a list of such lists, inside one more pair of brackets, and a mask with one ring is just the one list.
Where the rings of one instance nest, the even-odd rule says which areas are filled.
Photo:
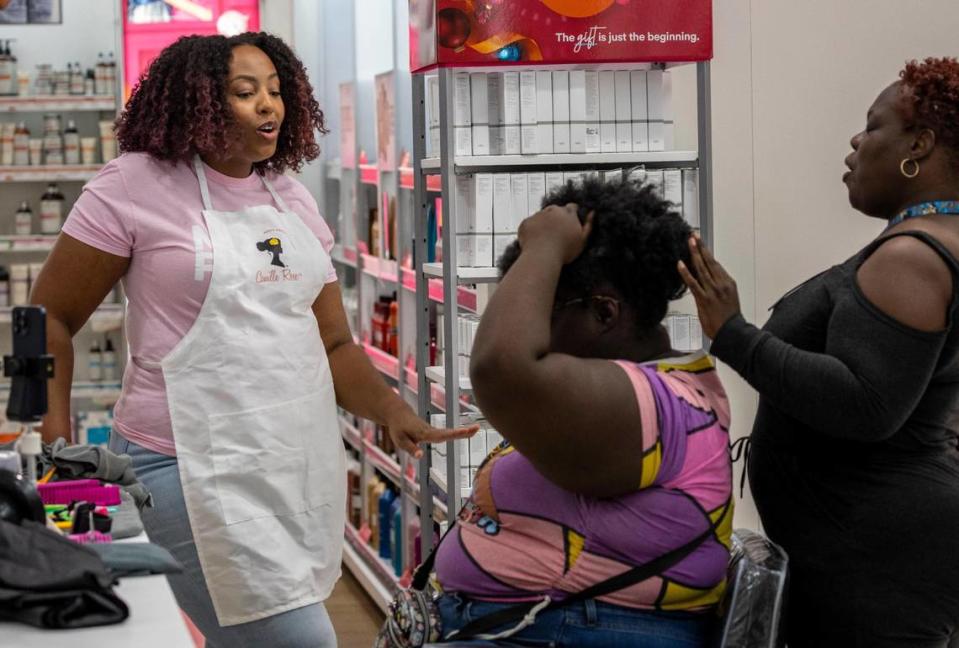
[[303, 65], [263, 33], [165, 49], [117, 122], [122, 155], [91, 180], [37, 279], [56, 357], [47, 440], [70, 435], [72, 336], [118, 282], [130, 362], [111, 448], [153, 494], [150, 539], [208, 646], [333, 646], [345, 457], [336, 406], [429, 427], [354, 343], [333, 236], [283, 172], [319, 153]]

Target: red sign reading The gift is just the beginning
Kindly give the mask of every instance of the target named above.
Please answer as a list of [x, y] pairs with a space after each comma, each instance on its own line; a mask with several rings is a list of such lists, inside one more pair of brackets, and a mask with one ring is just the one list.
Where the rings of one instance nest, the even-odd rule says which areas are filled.
[[712, 0], [410, 0], [414, 71], [712, 55]]

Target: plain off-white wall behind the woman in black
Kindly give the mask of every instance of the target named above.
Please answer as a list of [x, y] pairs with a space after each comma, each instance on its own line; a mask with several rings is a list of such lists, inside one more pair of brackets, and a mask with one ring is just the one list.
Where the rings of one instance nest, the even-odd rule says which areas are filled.
[[[849, 138], [906, 59], [956, 54], [959, 3], [714, 0], [713, 11], [715, 247], [762, 324], [782, 293], [879, 233], [847, 202]], [[755, 393], [721, 375], [733, 436], [747, 434]], [[736, 522], [756, 526], [748, 498]]]

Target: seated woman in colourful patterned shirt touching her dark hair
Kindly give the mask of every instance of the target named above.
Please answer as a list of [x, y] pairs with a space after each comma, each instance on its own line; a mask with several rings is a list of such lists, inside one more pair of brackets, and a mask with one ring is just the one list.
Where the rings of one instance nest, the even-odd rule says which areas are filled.
[[[531, 625], [496, 617], [480, 636], [706, 646], [732, 473], [716, 370], [662, 326], [689, 226], [635, 182], [570, 183], [545, 204], [500, 260], [473, 345], [477, 402], [507, 442], [436, 554], [444, 637], [461, 645], [472, 622], [525, 603]], [[581, 594], [642, 566], [639, 582]]]

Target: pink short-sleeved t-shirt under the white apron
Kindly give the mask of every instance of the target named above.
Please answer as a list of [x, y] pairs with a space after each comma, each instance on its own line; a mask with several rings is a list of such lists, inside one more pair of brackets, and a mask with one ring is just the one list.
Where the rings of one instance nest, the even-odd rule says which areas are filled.
[[[204, 168], [214, 209], [273, 204], [256, 174], [232, 178]], [[271, 175], [270, 181], [329, 252], [333, 234], [306, 187], [285, 175]], [[176, 446], [166, 386], [161, 371], [144, 362], [158, 363], [173, 349], [206, 298], [212, 255], [202, 209], [192, 164], [126, 153], [87, 183], [63, 226], [64, 233], [87, 245], [130, 257], [123, 286], [131, 362], [123, 374], [113, 426], [128, 440], [167, 455], [175, 455]], [[198, 263], [205, 269], [202, 280], [196, 278]], [[332, 281], [334, 270], [327, 277], [327, 283]]]

